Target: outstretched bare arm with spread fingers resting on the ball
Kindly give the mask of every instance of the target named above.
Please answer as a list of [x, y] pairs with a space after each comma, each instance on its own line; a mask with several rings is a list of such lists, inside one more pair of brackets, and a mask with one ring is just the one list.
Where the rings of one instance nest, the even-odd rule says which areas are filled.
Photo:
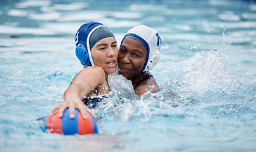
[[54, 111], [59, 109], [58, 115], [62, 117], [65, 109], [69, 108], [69, 116], [74, 118], [74, 111], [75, 108], [77, 108], [83, 118], [86, 118], [86, 111], [96, 118], [95, 113], [84, 105], [82, 101], [84, 96], [90, 97], [88, 94], [93, 90], [96, 90], [98, 94], [109, 92], [104, 70], [98, 66], [84, 68], [81, 72], [77, 73], [64, 93], [64, 102], [55, 106], [55, 108], [51, 110], [51, 115], [53, 115]]

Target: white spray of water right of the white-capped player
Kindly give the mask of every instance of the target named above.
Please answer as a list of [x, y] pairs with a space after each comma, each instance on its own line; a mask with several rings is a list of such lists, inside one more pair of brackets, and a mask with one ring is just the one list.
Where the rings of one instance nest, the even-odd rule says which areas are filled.
[[[197, 49], [197, 47], [193, 47]], [[230, 72], [224, 61], [228, 58], [224, 54], [215, 52], [198, 52], [189, 60], [181, 61], [172, 69], [177, 77], [166, 79], [166, 85], [161, 91], [163, 99], [210, 101], [212, 99], [241, 98], [252, 100], [255, 89], [255, 77], [243, 78], [244, 73]], [[249, 74], [251, 75], [251, 74]], [[248, 79], [250, 78], [250, 79]], [[254, 87], [253, 87], [254, 86]]]

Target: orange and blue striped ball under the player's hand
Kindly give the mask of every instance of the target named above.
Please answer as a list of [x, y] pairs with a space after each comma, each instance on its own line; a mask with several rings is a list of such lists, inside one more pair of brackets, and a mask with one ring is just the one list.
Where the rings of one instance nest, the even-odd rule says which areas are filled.
[[53, 116], [44, 118], [45, 127], [48, 132], [72, 135], [72, 134], [98, 134], [98, 127], [95, 119], [87, 112], [87, 118], [84, 119], [79, 110], [75, 110], [75, 117], [69, 117], [69, 108], [67, 108], [62, 118], [58, 117], [58, 111]]

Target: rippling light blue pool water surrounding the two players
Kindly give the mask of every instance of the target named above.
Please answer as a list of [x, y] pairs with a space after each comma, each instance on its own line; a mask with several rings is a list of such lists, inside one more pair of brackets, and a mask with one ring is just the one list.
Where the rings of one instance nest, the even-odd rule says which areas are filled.
[[[255, 18], [254, 1], [1, 1], [0, 151], [256, 151]], [[162, 90], [137, 100], [111, 75], [100, 134], [45, 133], [37, 118], [82, 69], [74, 34], [90, 21], [118, 42], [136, 25], [156, 28]]]

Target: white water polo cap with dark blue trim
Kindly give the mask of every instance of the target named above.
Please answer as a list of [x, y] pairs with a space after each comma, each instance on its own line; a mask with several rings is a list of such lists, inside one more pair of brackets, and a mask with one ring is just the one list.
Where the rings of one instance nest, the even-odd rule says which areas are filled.
[[123, 40], [126, 38], [135, 39], [141, 42], [147, 49], [147, 58], [140, 73], [152, 70], [152, 68], [154, 68], [154, 66], [156, 66], [160, 60], [159, 51], [161, 47], [161, 38], [158, 31], [145, 25], [139, 25], [131, 28], [126, 33]]

